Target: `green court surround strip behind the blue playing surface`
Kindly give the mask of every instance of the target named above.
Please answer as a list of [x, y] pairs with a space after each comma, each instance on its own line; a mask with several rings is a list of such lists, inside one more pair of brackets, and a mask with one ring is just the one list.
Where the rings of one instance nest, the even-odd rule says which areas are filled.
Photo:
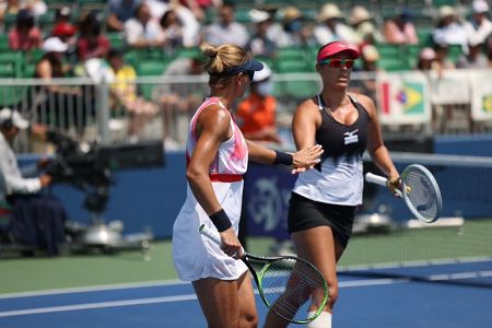
[[[340, 265], [370, 265], [422, 259], [492, 257], [492, 220], [461, 227], [433, 227], [354, 236]], [[269, 255], [272, 238], [250, 237], [248, 251]], [[0, 258], [0, 294], [63, 288], [177, 279], [171, 241], [152, 243], [150, 260], [141, 251], [66, 255], [56, 258]]]

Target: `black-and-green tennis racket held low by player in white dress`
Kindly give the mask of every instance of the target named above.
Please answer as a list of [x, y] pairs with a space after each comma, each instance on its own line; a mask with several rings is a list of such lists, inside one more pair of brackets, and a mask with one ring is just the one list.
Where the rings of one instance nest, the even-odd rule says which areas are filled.
[[[221, 245], [215, 231], [200, 226], [199, 232]], [[328, 301], [328, 284], [321, 272], [294, 256], [262, 257], [244, 251], [241, 258], [248, 267], [267, 307], [294, 324], [316, 319]]]

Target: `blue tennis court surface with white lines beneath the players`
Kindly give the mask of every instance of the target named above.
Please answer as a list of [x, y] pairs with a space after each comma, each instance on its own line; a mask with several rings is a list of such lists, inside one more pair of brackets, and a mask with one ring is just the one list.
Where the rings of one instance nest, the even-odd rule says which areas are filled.
[[[257, 296], [260, 326], [266, 307]], [[489, 288], [342, 277], [333, 327], [492, 327]], [[54, 290], [0, 296], [0, 327], [206, 327], [191, 284]], [[295, 325], [292, 325], [295, 326]]]

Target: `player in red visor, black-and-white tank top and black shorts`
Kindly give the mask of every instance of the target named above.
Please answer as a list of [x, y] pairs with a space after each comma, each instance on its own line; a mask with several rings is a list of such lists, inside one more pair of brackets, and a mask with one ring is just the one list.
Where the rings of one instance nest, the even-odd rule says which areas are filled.
[[[358, 206], [362, 203], [362, 154], [368, 151], [375, 164], [400, 186], [399, 173], [386, 149], [373, 101], [349, 93], [350, 73], [359, 51], [341, 42], [318, 50], [316, 70], [321, 93], [304, 101], [292, 122], [298, 150], [323, 145], [317, 169], [300, 174], [290, 200], [288, 226], [297, 256], [314, 263], [328, 282], [325, 311], [307, 327], [331, 328], [331, 313], [338, 296], [337, 261], [347, 247]], [[266, 327], [285, 327], [269, 313]]]

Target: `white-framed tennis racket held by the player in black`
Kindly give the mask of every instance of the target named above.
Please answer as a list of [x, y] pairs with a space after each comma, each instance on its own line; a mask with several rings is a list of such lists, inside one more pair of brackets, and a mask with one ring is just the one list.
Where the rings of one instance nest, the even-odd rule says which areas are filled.
[[[402, 188], [397, 192], [403, 198], [413, 215], [424, 223], [436, 221], [443, 209], [443, 199], [432, 173], [422, 165], [411, 164], [403, 169], [400, 178]], [[380, 186], [388, 185], [386, 177], [372, 173], [365, 175], [365, 180]]]

